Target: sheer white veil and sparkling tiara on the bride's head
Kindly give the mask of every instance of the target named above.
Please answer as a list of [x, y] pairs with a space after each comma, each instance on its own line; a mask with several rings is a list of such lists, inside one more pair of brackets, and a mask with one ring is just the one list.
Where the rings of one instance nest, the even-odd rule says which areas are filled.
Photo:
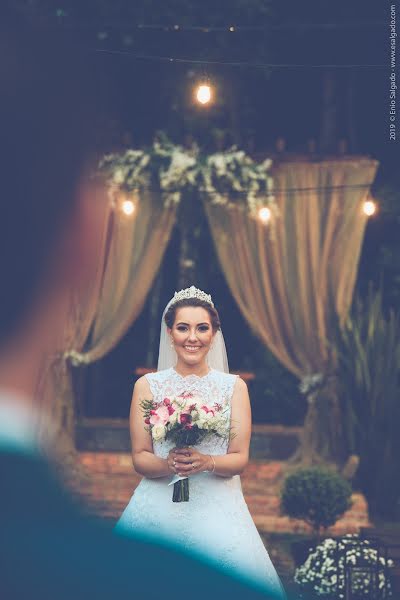
[[[207, 296], [204, 292], [198, 290], [194, 286], [175, 293], [175, 296], [168, 302], [167, 306], [165, 307], [163, 316], [161, 318], [160, 349], [158, 352], [157, 371], [162, 371], [164, 369], [174, 367], [178, 359], [175, 349], [171, 347], [170, 338], [167, 331], [167, 325], [164, 321], [164, 316], [168, 308], [181, 298], [201, 298], [203, 300], [206, 299], [206, 301], [209, 302], [211, 306], [214, 306], [211, 301], [211, 297]], [[221, 330], [217, 331], [217, 333], [215, 334], [212, 347], [209, 353], [207, 354], [207, 362], [212, 369], [216, 369], [217, 371], [223, 371], [224, 373], [229, 373], [228, 356], [226, 354], [225, 340]]]

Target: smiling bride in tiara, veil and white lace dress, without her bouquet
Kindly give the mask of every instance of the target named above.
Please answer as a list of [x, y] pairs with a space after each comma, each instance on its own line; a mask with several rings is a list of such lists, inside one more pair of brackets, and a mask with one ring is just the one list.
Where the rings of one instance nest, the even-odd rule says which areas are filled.
[[[193, 394], [226, 408], [229, 433], [176, 448], [145, 427], [143, 401]], [[218, 313], [194, 286], [175, 293], [161, 321], [157, 373], [134, 386], [130, 430], [133, 465], [143, 476], [116, 529], [167, 536], [206, 553], [221, 567], [285, 598], [281, 581], [243, 497], [240, 473], [249, 459], [251, 411], [246, 383], [229, 374]], [[189, 501], [173, 502], [172, 481], [188, 478]]]

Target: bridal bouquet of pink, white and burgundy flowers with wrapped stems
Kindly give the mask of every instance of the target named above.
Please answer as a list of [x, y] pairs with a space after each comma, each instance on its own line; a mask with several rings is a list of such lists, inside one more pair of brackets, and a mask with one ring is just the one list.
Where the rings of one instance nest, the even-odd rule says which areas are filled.
[[[215, 402], [212, 406], [191, 393], [164, 398], [162, 402], [143, 400], [146, 430], [154, 441], [172, 440], [177, 448], [195, 446], [211, 435], [230, 437], [227, 411], [229, 406]], [[173, 502], [189, 500], [189, 479], [175, 475]]]

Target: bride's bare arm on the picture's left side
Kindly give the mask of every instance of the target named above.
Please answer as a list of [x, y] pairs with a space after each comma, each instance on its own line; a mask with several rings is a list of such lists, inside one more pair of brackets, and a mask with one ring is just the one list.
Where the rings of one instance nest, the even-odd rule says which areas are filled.
[[172, 473], [168, 459], [156, 456], [150, 432], [146, 431], [142, 400], [151, 400], [152, 393], [145, 377], [140, 377], [135, 383], [132, 394], [129, 425], [132, 444], [132, 460], [135, 471], [148, 478], [165, 477]]

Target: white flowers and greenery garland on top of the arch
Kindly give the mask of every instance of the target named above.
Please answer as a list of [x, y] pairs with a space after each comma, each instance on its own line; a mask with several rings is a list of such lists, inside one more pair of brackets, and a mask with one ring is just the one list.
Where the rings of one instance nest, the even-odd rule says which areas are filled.
[[212, 204], [240, 206], [252, 215], [266, 205], [275, 213], [272, 161], [256, 163], [233, 146], [225, 152], [201, 154], [197, 145], [190, 150], [173, 144], [160, 134], [147, 149], [128, 149], [107, 154], [99, 164], [110, 193], [157, 189], [164, 205], [178, 204], [185, 192], [197, 192]]

